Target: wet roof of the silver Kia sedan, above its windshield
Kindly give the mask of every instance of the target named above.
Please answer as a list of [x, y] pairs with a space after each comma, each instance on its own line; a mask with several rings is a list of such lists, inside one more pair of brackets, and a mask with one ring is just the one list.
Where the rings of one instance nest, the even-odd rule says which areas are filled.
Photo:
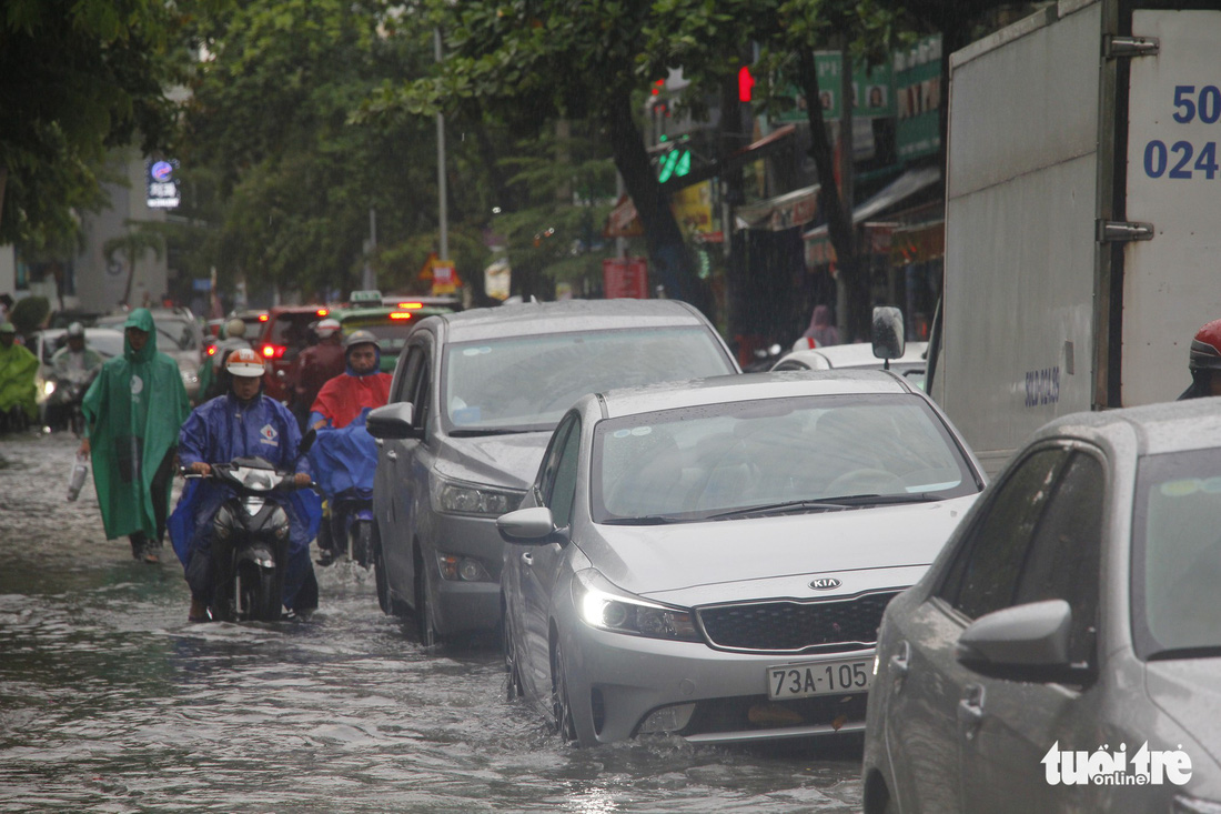
[[[883, 370], [784, 370], [623, 387], [585, 398], [598, 398], [604, 405], [607, 418], [615, 418], [755, 398], [917, 392], [901, 378]], [[923, 398], [923, 395], [919, 397]]]

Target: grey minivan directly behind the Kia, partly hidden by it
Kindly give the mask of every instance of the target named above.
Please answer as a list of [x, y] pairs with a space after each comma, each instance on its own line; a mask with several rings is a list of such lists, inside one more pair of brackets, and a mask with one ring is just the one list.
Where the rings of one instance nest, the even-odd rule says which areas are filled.
[[420, 320], [391, 403], [374, 485], [377, 598], [414, 612], [425, 643], [495, 631], [503, 543], [551, 431], [589, 392], [737, 373], [729, 348], [676, 301], [567, 301]]

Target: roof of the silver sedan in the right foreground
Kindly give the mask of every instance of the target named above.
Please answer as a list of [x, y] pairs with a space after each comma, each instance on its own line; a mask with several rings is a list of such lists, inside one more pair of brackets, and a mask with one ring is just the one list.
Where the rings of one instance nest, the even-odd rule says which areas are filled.
[[1045, 424], [1031, 442], [1066, 435], [1085, 440], [1131, 439], [1138, 455], [1221, 447], [1221, 398], [1071, 413]]

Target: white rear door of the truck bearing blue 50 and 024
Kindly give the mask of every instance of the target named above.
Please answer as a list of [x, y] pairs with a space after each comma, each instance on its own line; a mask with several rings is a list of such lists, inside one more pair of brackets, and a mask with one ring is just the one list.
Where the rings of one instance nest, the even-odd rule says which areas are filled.
[[1123, 406], [1173, 398], [1184, 342], [1221, 317], [1221, 11], [1132, 13], [1158, 54], [1129, 61], [1127, 211], [1154, 237], [1123, 246]]

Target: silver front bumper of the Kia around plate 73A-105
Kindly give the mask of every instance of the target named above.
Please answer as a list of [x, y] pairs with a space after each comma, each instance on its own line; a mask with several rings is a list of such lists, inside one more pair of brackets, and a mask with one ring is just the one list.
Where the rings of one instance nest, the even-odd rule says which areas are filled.
[[773, 702], [768, 698], [767, 671], [780, 665], [849, 659], [872, 667], [872, 648], [806, 656], [759, 655], [597, 631], [580, 622], [569, 629], [564, 640], [569, 702], [582, 742], [632, 737], [654, 711], [678, 704], [695, 708], [673, 733], [697, 743], [864, 731], [867, 692]]

